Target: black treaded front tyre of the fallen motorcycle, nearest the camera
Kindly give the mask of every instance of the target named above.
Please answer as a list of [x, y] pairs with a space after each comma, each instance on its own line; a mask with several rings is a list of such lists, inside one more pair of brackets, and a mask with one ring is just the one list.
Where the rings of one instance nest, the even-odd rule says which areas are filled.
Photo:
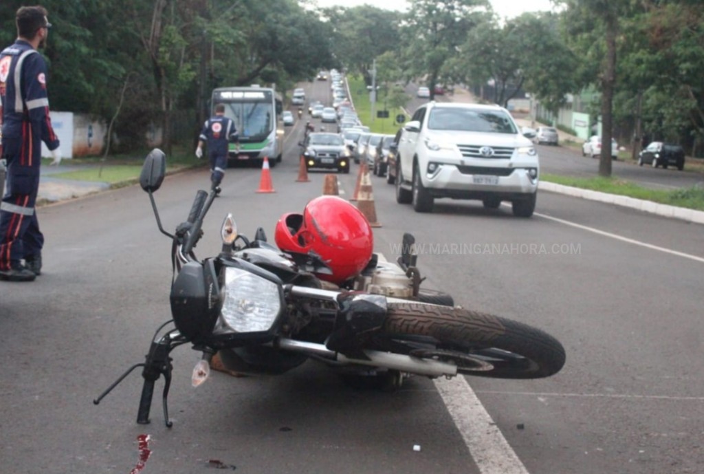
[[[460, 374], [543, 378], [558, 373], [565, 365], [565, 349], [546, 332], [464, 308], [389, 303], [382, 331], [398, 341], [417, 343], [418, 337], [429, 338], [434, 349], [428, 351], [435, 351], [441, 360], [456, 361]], [[467, 364], [472, 360], [482, 364]]]

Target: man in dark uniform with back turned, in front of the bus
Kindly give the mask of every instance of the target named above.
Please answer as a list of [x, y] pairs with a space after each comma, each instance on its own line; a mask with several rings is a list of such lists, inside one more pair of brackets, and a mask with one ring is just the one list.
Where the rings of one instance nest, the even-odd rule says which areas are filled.
[[227, 154], [230, 142], [238, 143], [239, 137], [237, 129], [231, 118], [225, 117], [225, 106], [218, 104], [215, 106], [215, 115], [208, 118], [203, 124], [203, 130], [199, 136], [196, 156], [203, 156], [203, 144], [208, 143], [208, 158], [210, 158], [210, 181], [213, 182], [213, 189], [220, 186], [222, 176], [227, 168]]

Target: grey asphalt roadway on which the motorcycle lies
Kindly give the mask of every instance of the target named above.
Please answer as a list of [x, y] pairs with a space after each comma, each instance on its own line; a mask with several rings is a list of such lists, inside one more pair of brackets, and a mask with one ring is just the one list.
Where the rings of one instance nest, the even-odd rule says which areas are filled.
[[[328, 82], [308, 87], [329, 93]], [[227, 171], [199, 256], [220, 249], [225, 213], [245, 235], [262, 226], [272, 237], [282, 213], [322, 192], [325, 173], [296, 182], [303, 123], [288, 133], [284, 161], [271, 170], [275, 193], [256, 193], [257, 168]], [[355, 171], [339, 175], [343, 197]], [[167, 230], [208, 182], [207, 170], [167, 177], [156, 194]], [[170, 318], [170, 242], [146, 194], [128, 187], [41, 208], [44, 274], [0, 283], [2, 471], [127, 473], [137, 436], [150, 435], [144, 474], [208, 473], [210, 461], [242, 473], [701, 472], [703, 226], [547, 192], [530, 219], [450, 200], [418, 214], [396, 204], [383, 180], [372, 182], [382, 223], [375, 251], [394, 256], [402, 233], [413, 232], [425, 245], [424, 285], [555, 335], [567, 350], [562, 372], [467, 378], [470, 388], [457, 393], [479, 405], [448, 408], [430, 380], [412, 378], [394, 394], [358, 391], [315, 363], [276, 378], [215, 373], [193, 389], [199, 353], [183, 347], [172, 354], [174, 427], [163, 425], [158, 395], [151, 425], [137, 425], [138, 373], [92, 404], [144, 360]], [[508, 448], [496, 449], [490, 432]]]

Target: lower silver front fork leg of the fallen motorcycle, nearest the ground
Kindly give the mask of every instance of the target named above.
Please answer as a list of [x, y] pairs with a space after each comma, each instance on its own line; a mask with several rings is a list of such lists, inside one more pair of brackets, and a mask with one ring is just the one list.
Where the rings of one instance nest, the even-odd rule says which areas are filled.
[[404, 356], [403, 354], [391, 354], [381, 351], [364, 351], [370, 360], [360, 360], [348, 358], [338, 352], [331, 351], [324, 344], [315, 342], [296, 341], [294, 339], [279, 339], [277, 346], [292, 352], [302, 352], [303, 354], [315, 354], [346, 364], [358, 364], [361, 366], [383, 367], [400, 372], [414, 373], [417, 375], [427, 375], [428, 377], [441, 377], [447, 375], [453, 377], [457, 375], [457, 366], [451, 363], [432, 361], [425, 358]]

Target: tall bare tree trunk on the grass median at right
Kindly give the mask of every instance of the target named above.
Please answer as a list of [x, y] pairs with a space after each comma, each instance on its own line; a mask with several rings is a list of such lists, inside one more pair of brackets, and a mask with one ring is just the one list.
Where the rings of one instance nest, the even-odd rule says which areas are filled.
[[616, 28], [617, 19], [606, 20], [606, 64], [601, 78], [601, 158], [599, 176], [611, 176], [612, 105], [616, 83]]

